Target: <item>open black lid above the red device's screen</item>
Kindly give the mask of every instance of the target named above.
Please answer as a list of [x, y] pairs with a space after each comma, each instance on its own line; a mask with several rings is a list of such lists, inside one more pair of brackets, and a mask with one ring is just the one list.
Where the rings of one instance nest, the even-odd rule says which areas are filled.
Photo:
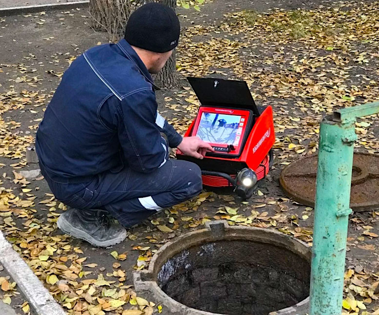
[[245, 108], [252, 110], [256, 117], [259, 116], [257, 106], [245, 81], [191, 77], [187, 80], [201, 105]]

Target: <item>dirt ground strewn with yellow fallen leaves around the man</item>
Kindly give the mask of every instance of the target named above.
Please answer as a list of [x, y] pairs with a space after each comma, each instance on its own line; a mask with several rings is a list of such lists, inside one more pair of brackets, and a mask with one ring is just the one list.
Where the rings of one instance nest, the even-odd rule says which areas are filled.
[[[159, 301], [136, 296], [132, 271], [146, 268], [168, 239], [208, 220], [277, 229], [311, 244], [313, 209], [286, 198], [278, 178], [285, 165], [316, 152], [320, 119], [334, 107], [379, 100], [378, 8], [379, 2], [369, 1], [242, 0], [215, 0], [201, 12], [180, 8], [181, 80], [177, 89], [157, 93], [161, 113], [184, 132], [199, 105], [185, 76], [245, 80], [257, 104], [274, 108], [274, 168], [248, 202], [230, 191], [204, 191], [131, 230], [111, 249], [62, 235], [55, 222], [66, 207], [40, 174], [22, 175], [37, 168], [26, 166], [25, 148], [33, 143], [63, 72], [78, 54], [105, 39], [90, 29], [83, 9], [0, 18], [1, 230], [75, 315], [166, 314]], [[378, 153], [378, 123], [377, 116], [359, 120], [357, 150]], [[350, 217], [347, 314], [379, 314], [378, 215]]]

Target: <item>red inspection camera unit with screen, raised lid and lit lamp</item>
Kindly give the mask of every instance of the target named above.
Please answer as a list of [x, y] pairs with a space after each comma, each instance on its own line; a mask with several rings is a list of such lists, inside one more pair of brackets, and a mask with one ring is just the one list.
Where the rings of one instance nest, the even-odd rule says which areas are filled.
[[256, 106], [245, 81], [187, 78], [201, 106], [184, 137], [198, 136], [215, 152], [202, 160], [177, 151], [177, 159], [201, 168], [203, 185], [233, 186], [249, 198], [273, 162], [275, 143], [271, 106]]

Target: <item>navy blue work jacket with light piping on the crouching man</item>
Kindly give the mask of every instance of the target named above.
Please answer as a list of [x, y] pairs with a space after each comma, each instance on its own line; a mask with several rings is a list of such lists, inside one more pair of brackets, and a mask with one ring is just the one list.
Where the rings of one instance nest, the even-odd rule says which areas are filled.
[[[79, 56], [62, 77], [36, 136], [41, 166], [59, 183], [124, 167], [151, 172], [182, 137], [157, 112], [152, 78], [124, 39]], [[163, 140], [164, 142], [164, 140]]]

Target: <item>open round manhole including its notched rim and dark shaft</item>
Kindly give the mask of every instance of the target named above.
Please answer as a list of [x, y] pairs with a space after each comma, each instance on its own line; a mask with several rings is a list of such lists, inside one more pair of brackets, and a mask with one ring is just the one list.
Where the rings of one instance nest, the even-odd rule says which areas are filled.
[[306, 244], [226, 221], [206, 225], [160, 248], [147, 271], [134, 273], [136, 290], [149, 291], [180, 315], [308, 313]]

